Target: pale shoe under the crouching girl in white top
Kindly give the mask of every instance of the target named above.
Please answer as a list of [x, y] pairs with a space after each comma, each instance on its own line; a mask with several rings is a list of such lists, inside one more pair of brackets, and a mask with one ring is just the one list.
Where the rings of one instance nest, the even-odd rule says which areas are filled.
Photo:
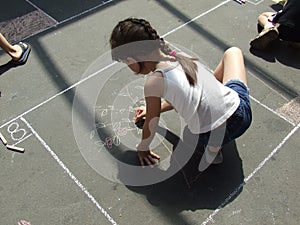
[[212, 152], [209, 150], [208, 146], [206, 146], [204, 154], [199, 163], [199, 171], [203, 172], [209, 167], [211, 164], [220, 164], [223, 162], [223, 155], [221, 152], [221, 148], [217, 152]]

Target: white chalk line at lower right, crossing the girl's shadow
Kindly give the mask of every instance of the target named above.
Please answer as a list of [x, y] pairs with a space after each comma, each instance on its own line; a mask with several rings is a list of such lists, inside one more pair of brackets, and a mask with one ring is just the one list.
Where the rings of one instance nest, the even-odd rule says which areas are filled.
[[260, 162], [260, 164], [253, 170], [252, 173], [250, 173], [245, 179], [242, 184], [240, 184], [226, 199], [225, 201], [212, 213], [210, 214], [207, 219], [202, 222], [202, 225], [206, 225], [209, 222], [214, 222], [214, 216], [218, 214], [218, 212], [231, 200], [232, 197], [234, 197], [240, 189], [246, 185], [249, 180], [259, 171], [263, 168], [263, 166], [281, 149], [281, 147], [290, 139], [291, 136], [293, 136], [300, 128], [300, 123], [295, 126], [291, 132], [277, 145], [276, 148], [273, 149], [273, 151], [263, 160]]

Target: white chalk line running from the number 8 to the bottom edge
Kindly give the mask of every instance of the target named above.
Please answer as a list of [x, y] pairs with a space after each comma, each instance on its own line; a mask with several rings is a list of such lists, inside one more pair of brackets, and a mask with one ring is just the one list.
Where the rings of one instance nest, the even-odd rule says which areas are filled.
[[68, 176], [75, 182], [75, 184], [80, 188], [80, 190], [91, 200], [94, 205], [98, 208], [98, 210], [106, 217], [106, 219], [113, 225], [117, 225], [117, 223], [113, 220], [113, 218], [109, 215], [109, 213], [97, 202], [97, 200], [90, 194], [90, 192], [83, 186], [82, 183], [74, 176], [74, 174], [68, 169], [68, 167], [59, 159], [59, 157], [55, 154], [54, 151], [50, 148], [50, 146], [41, 138], [41, 136], [34, 130], [34, 128], [29, 124], [29, 122], [24, 118], [20, 117], [28, 129], [32, 132], [32, 134], [39, 140], [39, 142], [44, 146], [44, 148], [50, 153], [50, 155], [54, 158], [54, 160], [60, 165], [60, 167], [68, 174]]

